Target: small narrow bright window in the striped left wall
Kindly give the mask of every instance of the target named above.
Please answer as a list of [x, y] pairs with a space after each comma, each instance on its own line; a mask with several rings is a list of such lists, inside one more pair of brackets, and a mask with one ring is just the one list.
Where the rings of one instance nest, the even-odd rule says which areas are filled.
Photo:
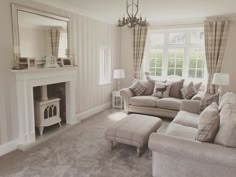
[[111, 50], [109, 47], [101, 47], [99, 85], [109, 83], [111, 83]]

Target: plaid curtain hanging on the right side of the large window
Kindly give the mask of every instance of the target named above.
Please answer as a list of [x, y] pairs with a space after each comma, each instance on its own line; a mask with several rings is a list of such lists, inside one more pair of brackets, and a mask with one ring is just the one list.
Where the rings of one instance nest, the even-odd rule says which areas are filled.
[[208, 70], [207, 93], [210, 94], [215, 94], [217, 92], [216, 86], [212, 85], [211, 82], [214, 73], [221, 71], [229, 26], [229, 20], [207, 20], [204, 24]]

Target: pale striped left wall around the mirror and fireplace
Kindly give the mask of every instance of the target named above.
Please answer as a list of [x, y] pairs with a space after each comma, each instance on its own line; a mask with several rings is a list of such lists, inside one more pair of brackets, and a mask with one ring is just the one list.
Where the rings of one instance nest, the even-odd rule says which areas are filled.
[[[15, 79], [10, 69], [13, 66], [13, 36], [10, 3], [0, 1], [0, 154], [3, 149], [14, 149], [13, 141], [18, 137], [16, 120]], [[43, 9], [72, 20], [72, 49], [77, 58], [78, 78], [76, 84], [76, 111], [79, 119], [110, 105], [114, 84], [98, 85], [98, 52], [100, 45], [112, 50], [113, 68], [118, 66], [119, 37], [117, 28], [88, 17], [48, 7], [28, 0], [15, 0], [27, 6]], [[11, 147], [9, 147], [11, 146]]]

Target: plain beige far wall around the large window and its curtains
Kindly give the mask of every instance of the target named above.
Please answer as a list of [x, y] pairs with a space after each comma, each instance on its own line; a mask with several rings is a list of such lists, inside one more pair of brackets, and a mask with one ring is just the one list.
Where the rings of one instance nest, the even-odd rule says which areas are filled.
[[[231, 17], [231, 26], [229, 31], [229, 37], [227, 41], [227, 46], [225, 50], [225, 56], [222, 63], [222, 72], [230, 73], [230, 86], [225, 87], [224, 90], [236, 92], [236, 18]], [[151, 25], [150, 29], [160, 29], [160, 28], [175, 28], [176, 26], [193, 27], [193, 26], [202, 26], [204, 19], [197, 19], [193, 21], [184, 22], [166, 22], [164, 24], [155, 24]], [[171, 25], [170, 25], [171, 24]], [[180, 25], [181, 24], [181, 25]], [[124, 68], [126, 71], [126, 78], [122, 80], [122, 87], [128, 87], [132, 81], [133, 73], [133, 58], [132, 58], [132, 31], [127, 28], [121, 29], [121, 68]]]

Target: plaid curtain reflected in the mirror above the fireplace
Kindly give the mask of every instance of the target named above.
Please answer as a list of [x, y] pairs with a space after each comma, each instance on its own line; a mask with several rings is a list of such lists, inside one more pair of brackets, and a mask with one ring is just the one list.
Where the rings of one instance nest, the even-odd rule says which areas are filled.
[[49, 30], [49, 51], [50, 55], [58, 57], [59, 53], [59, 42], [61, 32], [57, 28], [51, 28]]

